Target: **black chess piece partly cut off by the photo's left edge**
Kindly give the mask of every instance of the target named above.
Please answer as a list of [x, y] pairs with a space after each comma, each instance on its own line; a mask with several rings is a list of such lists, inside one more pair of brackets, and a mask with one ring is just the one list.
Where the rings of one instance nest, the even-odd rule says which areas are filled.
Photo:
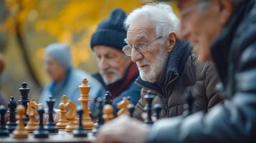
[[1, 124], [0, 124], [0, 137], [9, 137], [9, 131], [6, 129], [6, 124], [4, 122], [4, 117], [6, 114], [6, 108], [4, 105], [0, 105], [0, 115], [1, 115]]

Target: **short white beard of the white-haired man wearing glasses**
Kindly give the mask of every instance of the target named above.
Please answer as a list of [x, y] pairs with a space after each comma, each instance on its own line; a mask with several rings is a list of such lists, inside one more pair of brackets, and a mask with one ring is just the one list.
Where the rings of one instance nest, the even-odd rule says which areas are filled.
[[[162, 50], [160, 51], [160, 53], [158, 54], [158, 56], [156, 56], [156, 62], [155, 64], [149, 64], [148, 61], [146, 61], [146, 59], [143, 59], [143, 61], [137, 61], [136, 64], [138, 65], [144, 65], [147, 64], [149, 65], [149, 72], [145, 73], [143, 71], [143, 69], [141, 69], [138, 66], [138, 71], [140, 72], [140, 77], [143, 81], [146, 82], [156, 82], [156, 79], [158, 79], [158, 77], [160, 76], [161, 72], [163, 71], [163, 66], [165, 65], [167, 56], [168, 56], [168, 52], [163, 50], [163, 47], [161, 48]], [[138, 63], [140, 62], [140, 63]]]

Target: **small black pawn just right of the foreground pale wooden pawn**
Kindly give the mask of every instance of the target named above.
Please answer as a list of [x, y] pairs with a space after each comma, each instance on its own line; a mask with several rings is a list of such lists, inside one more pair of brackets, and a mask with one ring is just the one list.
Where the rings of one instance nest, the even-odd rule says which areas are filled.
[[49, 132], [47, 131], [47, 129], [44, 129], [44, 122], [43, 122], [44, 107], [39, 107], [39, 109], [37, 109], [37, 112], [39, 114], [39, 126], [37, 130], [33, 132], [34, 138], [48, 138]]

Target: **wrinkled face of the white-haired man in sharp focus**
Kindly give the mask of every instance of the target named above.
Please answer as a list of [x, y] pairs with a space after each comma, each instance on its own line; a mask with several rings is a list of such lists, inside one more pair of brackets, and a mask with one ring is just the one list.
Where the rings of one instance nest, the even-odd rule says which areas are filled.
[[[157, 39], [153, 21], [148, 17], [139, 17], [128, 28], [127, 41], [131, 46], [147, 44]], [[147, 82], [156, 82], [163, 71], [163, 66], [168, 55], [167, 48], [163, 46], [163, 38], [148, 44], [146, 51], [140, 52], [135, 48], [131, 51], [131, 59], [138, 66], [141, 79]]]

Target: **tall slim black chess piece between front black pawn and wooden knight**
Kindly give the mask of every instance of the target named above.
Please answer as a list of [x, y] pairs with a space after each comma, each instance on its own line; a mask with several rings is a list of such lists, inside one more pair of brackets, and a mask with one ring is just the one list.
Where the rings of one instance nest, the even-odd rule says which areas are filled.
[[46, 102], [47, 102], [47, 106], [48, 106], [49, 119], [47, 121], [45, 129], [47, 129], [51, 133], [56, 133], [59, 130], [58, 130], [56, 124], [54, 123], [54, 119], [53, 119], [53, 113], [54, 113], [53, 107], [54, 107], [55, 99], [53, 99], [52, 96], [50, 96]]

